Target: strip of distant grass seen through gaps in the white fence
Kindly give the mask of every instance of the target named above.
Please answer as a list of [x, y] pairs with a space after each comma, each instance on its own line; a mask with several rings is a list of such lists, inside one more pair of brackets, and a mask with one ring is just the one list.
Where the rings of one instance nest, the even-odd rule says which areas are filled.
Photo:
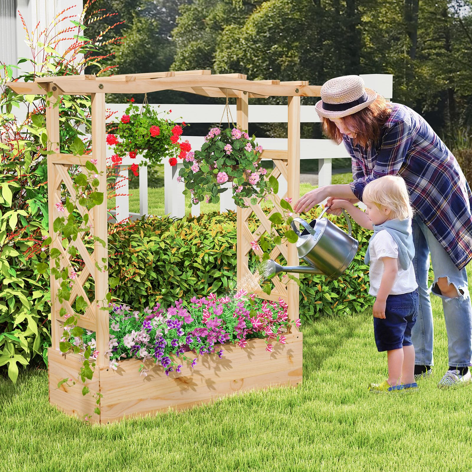
[[[333, 184], [347, 184], [352, 181], [352, 174], [333, 174]], [[313, 185], [305, 183], [300, 184], [300, 195], [312, 190]], [[130, 189], [129, 191], [129, 211], [132, 213], [139, 213], [139, 189]], [[185, 205], [188, 206], [190, 198], [185, 198]], [[108, 208], [115, 207], [115, 199], [108, 200]], [[219, 204], [200, 203], [200, 211], [202, 213], [211, 213], [212, 211], [219, 211]], [[164, 214], [164, 187], [148, 188], [148, 212], [150, 215], [161, 216]]]

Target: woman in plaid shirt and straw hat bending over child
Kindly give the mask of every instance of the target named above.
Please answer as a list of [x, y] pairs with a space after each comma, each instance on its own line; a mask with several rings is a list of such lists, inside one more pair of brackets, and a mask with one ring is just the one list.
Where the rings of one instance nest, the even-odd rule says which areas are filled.
[[[352, 158], [354, 181], [319, 187], [296, 202], [295, 212], [335, 198], [362, 201], [373, 179], [403, 177], [410, 193], [420, 310], [412, 332], [415, 379], [432, 373], [433, 318], [430, 292], [442, 299], [449, 368], [438, 387], [471, 381], [472, 308], [465, 266], [472, 260], [472, 194], [446, 145], [415, 111], [388, 103], [364, 87], [359, 76], [329, 80], [316, 103], [324, 133], [343, 142]], [[339, 214], [340, 210], [333, 211]], [[428, 288], [430, 255], [434, 281]]]

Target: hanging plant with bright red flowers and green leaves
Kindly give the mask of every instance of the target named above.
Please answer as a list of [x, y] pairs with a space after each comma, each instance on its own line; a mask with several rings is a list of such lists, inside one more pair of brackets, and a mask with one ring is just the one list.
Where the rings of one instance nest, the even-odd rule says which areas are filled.
[[[169, 118], [170, 111], [158, 112], [145, 101], [140, 108], [131, 99], [125, 114], [119, 119], [115, 134], [107, 135], [107, 143], [113, 147], [113, 162], [120, 164], [128, 155], [135, 159], [143, 154], [147, 165], [159, 164], [168, 158], [169, 164], [175, 166], [177, 158], [184, 159], [191, 150], [188, 141], [180, 142], [183, 127], [176, 125]], [[132, 166], [133, 173], [138, 175], [137, 164]]]

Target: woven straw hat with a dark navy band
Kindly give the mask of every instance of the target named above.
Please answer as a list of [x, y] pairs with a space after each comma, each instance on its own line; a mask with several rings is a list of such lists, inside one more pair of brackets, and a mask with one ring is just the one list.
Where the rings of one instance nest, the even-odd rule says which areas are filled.
[[321, 87], [315, 110], [320, 118], [342, 118], [368, 107], [376, 98], [377, 92], [365, 88], [362, 77], [335, 77]]

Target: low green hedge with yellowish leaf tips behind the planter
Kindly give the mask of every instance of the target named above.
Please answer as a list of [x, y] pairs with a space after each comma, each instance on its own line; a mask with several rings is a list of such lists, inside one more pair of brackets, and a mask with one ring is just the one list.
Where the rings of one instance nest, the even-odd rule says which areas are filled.
[[[313, 210], [305, 215], [307, 220], [315, 217]], [[347, 231], [344, 218], [330, 218]], [[255, 220], [253, 224], [255, 229]], [[373, 303], [363, 263], [370, 232], [352, 224], [360, 249], [342, 277], [326, 281], [300, 274], [300, 317], [305, 322], [320, 314], [359, 312]], [[270, 250], [268, 244], [261, 241], [262, 249]], [[110, 235], [109, 247], [109, 276], [119, 281], [114, 295], [132, 306], [236, 290], [236, 213], [141, 219], [127, 232]], [[251, 269], [257, 265], [250, 253]]]

